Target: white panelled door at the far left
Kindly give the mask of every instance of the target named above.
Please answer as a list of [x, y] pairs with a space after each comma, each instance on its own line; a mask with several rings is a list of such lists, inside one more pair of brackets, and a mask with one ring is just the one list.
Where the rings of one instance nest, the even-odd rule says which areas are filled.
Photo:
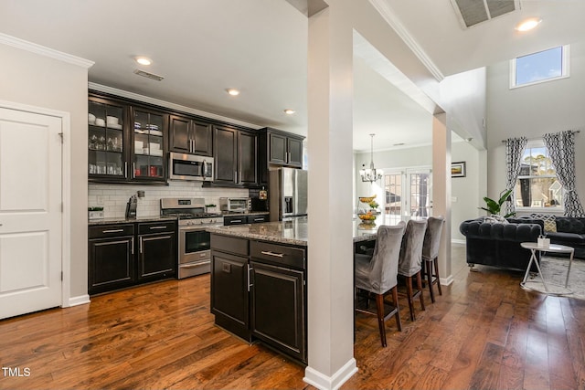
[[0, 319], [61, 304], [60, 132], [0, 108]]

